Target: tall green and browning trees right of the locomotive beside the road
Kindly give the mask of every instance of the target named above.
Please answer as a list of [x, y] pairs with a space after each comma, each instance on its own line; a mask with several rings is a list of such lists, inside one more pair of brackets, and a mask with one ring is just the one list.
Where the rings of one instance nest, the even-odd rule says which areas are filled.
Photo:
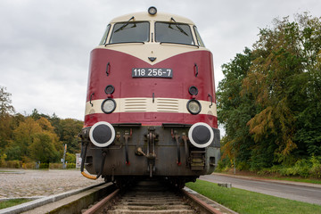
[[321, 156], [321, 18], [276, 19], [222, 68], [218, 121], [228, 156], [251, 169]]

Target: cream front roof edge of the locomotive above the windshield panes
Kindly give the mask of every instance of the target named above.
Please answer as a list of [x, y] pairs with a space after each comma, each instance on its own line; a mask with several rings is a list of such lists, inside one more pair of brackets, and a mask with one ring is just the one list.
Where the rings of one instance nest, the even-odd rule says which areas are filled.
[[171, 21], [171, 18], [173, 18], [177, 22], [194, 25], [193, 21], [186, 19], [185, 17], [170, 14], [170, 13], [165, 13], [165, 12], [157, 12], [155, 15], [151, 15], [148, 12], [129, 13], [127, 15], [119, 16], [111, 20], [111, 23], [128, 21], [133, 16], [134, 16], [134, 21]]

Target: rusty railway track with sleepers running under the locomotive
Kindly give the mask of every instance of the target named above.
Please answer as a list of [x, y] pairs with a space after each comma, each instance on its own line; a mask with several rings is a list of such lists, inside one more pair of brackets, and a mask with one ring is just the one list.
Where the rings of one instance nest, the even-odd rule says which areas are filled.
[[[208, 202], [205, 202], [208, 201]], [[210, 204], [209, 204], [210, 203]], [[118, 213], [235, 213], [198, 194], [177, 190], [160, 181], [141, 181], [126, 191], [116, 190], [83, 214]]]

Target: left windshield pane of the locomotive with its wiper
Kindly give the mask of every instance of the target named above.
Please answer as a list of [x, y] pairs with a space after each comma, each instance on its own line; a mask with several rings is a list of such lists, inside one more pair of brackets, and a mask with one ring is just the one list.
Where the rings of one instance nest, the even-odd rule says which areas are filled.
[[112, 29], [110, 43], [131, 43], [149, 41], [149, 22], [116, 23]]

